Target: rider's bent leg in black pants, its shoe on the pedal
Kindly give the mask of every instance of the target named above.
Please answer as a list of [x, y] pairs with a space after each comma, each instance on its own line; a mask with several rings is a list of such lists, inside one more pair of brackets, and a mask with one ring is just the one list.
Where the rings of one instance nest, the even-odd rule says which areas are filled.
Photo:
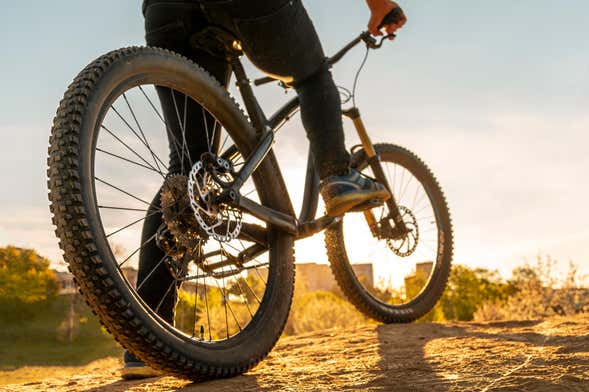
[[[340, 215], [386, 189], [349, 171], [339, 92], [325, 66], [325, 55], [300, 0], [204, 1], [212, 20], [232, 30], [254, 64], [290, 80], [301, 103], [301, 118], [322, 180], [329, 215]], [[210, 4], [209, 4], [210, 3]]]

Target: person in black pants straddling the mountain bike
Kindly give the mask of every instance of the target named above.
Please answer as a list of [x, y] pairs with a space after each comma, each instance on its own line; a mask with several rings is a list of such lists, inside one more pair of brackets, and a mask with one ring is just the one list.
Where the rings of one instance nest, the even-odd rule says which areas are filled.
[[[395, 15], [383, 28], [393, 34], [406, 18], [400, 7], [391, 0], [366, 0], [371, 12], [368, 30], [382, 35], [378, 28], [385, 16]], [[321, 179], [320, 191], [327, 214], [342, 215], [351, 209], [360, 210], [371, 201], [383, 202], [390, 197], [385, 187], [372, 179], [360, 176], [349, 168], [350, 156], [344, 144], [342, 112], [339, 92], [319, 37], [301, 0], [144, 0], [146, 41], [149, 46], [166, 48], [188, 57], [208, 71], [221, 85], [227, 87], [230, 66], [224, 58], [194, 45], [195, 33], [207, 26], [220, 26], [235, 35], [248, 58], [263, 71], [278, 75], [292, 85], [300, 100], [301, 118], [310, 141], [311, 151]], [[158, 91], [166, 118], [176, 116], [169, 92]], [[192, 109], [192, 108], [191, 108]], [[172, 121], [173, 122], [173, 121]], [[195, 122], [196, 123], [196, 122]], [[203, 124], [202, 121], [198, 124]], [[186, 132], [191, 156], [207, 150], [202, 129]], [[175, 159], [176, 158], [176, 159]], [[171, 166], [178, 164], [171, 157]], [[172, 167], [170, 172], [173, 172]], [[368, 204], [368, 203], [366, 203]], [[159, 208], [156, 195], [153, 208]], [[161, 225], [160, 214], [148, 212], [142, 237], [153, 236]], [[142, 240], [144, 241], [144, 240]], [[144, 243], [144, 242], [142, 242]], [[156, 266], [164, 256], [154, 241], [146, 245], [139, 256], [138, 281], [151, 273], [149, 284], [140, 295], [159, 314], [173, 322], [176, 290], [168, 290], [172, 277], [163, 265]], [[157, 276], [156, 276], [157, 275]], [[162, 295], [166, 296], [161, 302]], [[147, 366], [130, 353], [125, 353], [123, 377], [138, 378], [154, 375]]]

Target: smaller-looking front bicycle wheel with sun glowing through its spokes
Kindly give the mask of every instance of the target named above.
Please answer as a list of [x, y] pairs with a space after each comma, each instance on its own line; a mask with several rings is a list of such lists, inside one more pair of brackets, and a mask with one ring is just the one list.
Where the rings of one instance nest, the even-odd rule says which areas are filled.
[[[391, 194], [407, 227], [395, 230], [386, 204], [349, 213], [325, 231], [332, 272], [362, 313], [407, 323], [429, 312], [444, 291], [452, 262], [452, 222], [430, 169], [412, 152], [375, 145]], [[352, 166], [374, 176], [364, 151]]]

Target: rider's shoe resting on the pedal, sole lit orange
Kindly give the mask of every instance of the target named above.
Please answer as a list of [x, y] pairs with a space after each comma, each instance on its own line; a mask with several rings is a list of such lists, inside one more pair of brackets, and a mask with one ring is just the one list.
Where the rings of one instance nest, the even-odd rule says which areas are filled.
[[354, 209], [374, 208], [377, 202], [388, 200], [391, 195], [384, 185], [351, 169], [348, 174], [331, 176], [321, 183], [321, 196], [327, 215], [340, 216]]

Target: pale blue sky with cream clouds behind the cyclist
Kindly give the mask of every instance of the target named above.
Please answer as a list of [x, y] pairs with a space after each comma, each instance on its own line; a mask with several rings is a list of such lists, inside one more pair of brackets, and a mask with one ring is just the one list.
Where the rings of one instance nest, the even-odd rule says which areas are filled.
[[[368, 20], [361, 0], [304, 3], [326, 53]], [[408, 23], [371, 53], [357, 102], [373, 140], [413, 150], [436, 173], [452, 212], [455, 262], [507, 276], [542, 254], [589, 273], [589, 3], [400, 3]], [[3, 5], [0, 246], [60, 260], [45, 180], [53, 115], [79, 70], [111, 49], [143, 44], [142, 29], [140, 1]], [[362, 55], [356, 49], [337, 66], [338, 84], [351, 87]], [[268, 112], [288, 98], [275, 86], [257, 93]], [[275, 147], [295, 206], [302, 135], [295, 120]], [[349, 124], [346, 136], [355, 144]], [[298, 261], [325, 262], [322, 242], [298, 244]]]

